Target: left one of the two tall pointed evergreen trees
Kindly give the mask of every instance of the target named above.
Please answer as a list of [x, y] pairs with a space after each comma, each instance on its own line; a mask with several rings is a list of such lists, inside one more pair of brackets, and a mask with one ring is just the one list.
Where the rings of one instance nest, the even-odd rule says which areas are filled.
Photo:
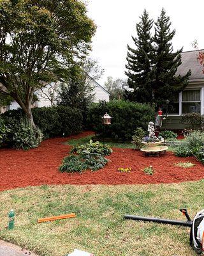
[[152, 70], [152, 29], [153, 20], [149, 19], [149, 14], [146, 10], [143, 11], [141, 21], [136, 24], [137, 36], [133, 37], [136, 48], [133, 49], [128, 45], [128, 85], [133, 92], [126, 92], [130, 100], [137, 102], [151, 102], [151, 70]]

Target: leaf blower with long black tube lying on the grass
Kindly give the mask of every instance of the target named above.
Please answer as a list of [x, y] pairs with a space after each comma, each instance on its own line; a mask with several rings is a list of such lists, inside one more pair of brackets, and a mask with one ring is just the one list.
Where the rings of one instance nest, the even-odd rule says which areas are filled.
[[180, 225], [184, 227], [190, 227], [190, 244], [196, 251], [196, 253], [201, 254], [204, 252], [204, 209], [201, 210], [194, 216], [194, 219], [191, 220], [189, 214], [187, 213], [187, 209], [180, 209], [180, 211], [186, 216], [187, 221], [180, 220], [166, 220], [160, 218], [149, 218], [143, 216], [135, 216], [135, 215], [125, 215], [124, 218], [126, 220], [141, 220], [141, 221], [152, 221], [163, 224], [170, 225]]

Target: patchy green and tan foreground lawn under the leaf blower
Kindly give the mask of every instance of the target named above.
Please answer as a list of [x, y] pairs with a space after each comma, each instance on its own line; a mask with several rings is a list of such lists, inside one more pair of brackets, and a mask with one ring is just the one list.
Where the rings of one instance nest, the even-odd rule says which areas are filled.
[[[124, 220], [138, 214], [185, 220], [203, 209], [204, 180], [130, 186], [40, 186], [0, 193], [0, 239], [41, 256], [63, 256], [75, 248], [96, 256], [195, 256], [189, 228]], [[16, 212], [7, 230], [8, 212]], [[77, 218], [37, 223], [38, 218], [76, 212]]]

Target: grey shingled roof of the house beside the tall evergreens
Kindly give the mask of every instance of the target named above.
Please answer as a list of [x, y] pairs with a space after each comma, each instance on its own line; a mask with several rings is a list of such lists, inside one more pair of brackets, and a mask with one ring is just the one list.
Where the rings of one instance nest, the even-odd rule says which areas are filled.
[[184, 76], [191, 69], [190, 80], [204, 79], [203, 66], [200, 65], [197, 59], [200, 51], [204, 50], [182, 52], [182, 64], [179, 66], [176, 75]]

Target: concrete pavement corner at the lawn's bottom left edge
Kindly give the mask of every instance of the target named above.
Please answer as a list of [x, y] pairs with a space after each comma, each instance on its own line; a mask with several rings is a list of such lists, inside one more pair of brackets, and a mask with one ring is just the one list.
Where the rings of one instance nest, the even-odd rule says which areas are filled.
[[15, 244], [10, 244], [0, 240], [0, 256], [38, 256], [34, 253], [31, 253], [28, 250], [24, 250]]

